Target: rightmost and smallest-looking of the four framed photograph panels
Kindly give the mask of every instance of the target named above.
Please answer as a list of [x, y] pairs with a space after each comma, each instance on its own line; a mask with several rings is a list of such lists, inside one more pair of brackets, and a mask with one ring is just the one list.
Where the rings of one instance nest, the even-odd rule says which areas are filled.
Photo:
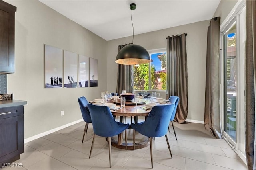
[[98, 60], [90, 58], [90, 87], [98, 86]]

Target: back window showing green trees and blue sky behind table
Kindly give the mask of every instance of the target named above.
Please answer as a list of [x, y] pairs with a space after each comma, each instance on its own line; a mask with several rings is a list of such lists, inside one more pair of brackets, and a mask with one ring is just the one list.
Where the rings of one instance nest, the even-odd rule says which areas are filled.
[[166, 90], [166, 49], [148, 51], [150, 63], [134, 65], [134, 90]]

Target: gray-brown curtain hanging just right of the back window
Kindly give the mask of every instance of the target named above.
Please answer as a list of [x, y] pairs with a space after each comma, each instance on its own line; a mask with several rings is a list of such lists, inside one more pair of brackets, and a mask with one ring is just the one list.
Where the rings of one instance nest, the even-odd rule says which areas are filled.
[[167, 95], [178, 96], [180, 102], [174, 120], [185, 123], [188, 115], [188, 70], [186, 34], [167, 37]]

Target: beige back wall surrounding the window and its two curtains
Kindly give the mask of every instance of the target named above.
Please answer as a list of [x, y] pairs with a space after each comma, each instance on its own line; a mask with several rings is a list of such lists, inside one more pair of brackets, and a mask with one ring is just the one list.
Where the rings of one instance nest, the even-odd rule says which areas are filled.
[[[190, 120], [204, 121], [204, 95], [206, 76], [206, 42], [209, 20], [181, 25], [134, 36], [134, 44], [147, 50], [166, 48], [166, 37], [188, 33], [186, 36], [188, 59], [188, 117]], [[136, 31], [136, 27], [134, 28]], [[107, 42], [107, 87], [116, 91], [117, 64], [115, 63], [118, 44], [130, 43], [132, 37]]]

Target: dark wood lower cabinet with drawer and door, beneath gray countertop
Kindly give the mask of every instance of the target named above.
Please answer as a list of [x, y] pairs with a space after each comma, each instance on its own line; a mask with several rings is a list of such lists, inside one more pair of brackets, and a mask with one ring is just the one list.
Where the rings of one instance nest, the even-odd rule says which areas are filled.
[[23, 105], [0, 108], [1, 165], [20, 159], [20, 154], [24, 152], [23, 114]]

